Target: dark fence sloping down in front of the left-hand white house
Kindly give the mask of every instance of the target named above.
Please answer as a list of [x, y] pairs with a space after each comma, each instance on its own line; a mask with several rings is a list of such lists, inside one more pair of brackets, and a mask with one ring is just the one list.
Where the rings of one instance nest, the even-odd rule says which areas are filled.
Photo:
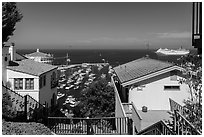
[[[7, 102], [4, 105], [11, 106], [17, 112], [16, 116], [14, 116], [16, 117], [15, 120], [45, 122], [48, 115], [47, 108], [30, 95], [22, 96], [3, 84], [2, 91], [3, 99]], [[11, 110], [8, 109], [8, 111]]]

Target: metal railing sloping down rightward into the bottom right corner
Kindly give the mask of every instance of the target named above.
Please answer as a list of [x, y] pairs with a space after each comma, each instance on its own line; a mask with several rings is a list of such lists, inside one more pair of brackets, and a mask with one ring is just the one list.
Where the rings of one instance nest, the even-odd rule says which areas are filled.
[[201, 135], [196, 128], [182, 114], [174, 111], [174, 132], [177, 135]]

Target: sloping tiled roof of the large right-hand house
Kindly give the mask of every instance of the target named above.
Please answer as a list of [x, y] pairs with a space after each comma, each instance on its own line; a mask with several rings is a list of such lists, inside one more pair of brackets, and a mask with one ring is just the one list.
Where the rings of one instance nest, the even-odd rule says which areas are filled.
[[160, 60], [143, 57], [123, 65], [117, 66], [114, 69], [121, 83], [127, 82], [139, 77], [157, 72], [159, 70], [169, 68], [174, 64], [163, 62]]

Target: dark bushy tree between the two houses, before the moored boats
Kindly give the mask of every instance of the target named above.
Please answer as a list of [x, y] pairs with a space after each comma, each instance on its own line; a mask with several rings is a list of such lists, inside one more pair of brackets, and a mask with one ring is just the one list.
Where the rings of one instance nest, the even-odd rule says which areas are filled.
[[78, 110], [75, 117], [111, 117], [114, 116], [114, 89], [105, 79], [94, 82], [81, 91]]

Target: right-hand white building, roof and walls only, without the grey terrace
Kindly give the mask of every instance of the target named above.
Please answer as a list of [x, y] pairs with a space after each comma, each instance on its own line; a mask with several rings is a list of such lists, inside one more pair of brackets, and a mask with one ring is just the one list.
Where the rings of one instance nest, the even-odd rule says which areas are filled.
[[183, 104], [190, 94], [180, 84], [183, 69], [172, 63], [141, 58], [115, 67], [122, 102], [133, 102], [138, 110], [170, 110], [169, 98]]

